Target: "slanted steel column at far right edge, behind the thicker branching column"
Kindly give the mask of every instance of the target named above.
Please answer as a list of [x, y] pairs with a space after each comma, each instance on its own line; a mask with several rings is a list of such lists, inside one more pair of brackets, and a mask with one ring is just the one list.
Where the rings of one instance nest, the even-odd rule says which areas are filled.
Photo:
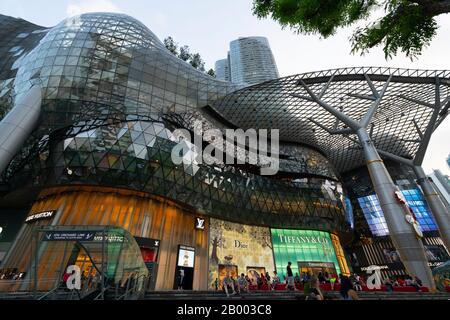
[[428, 180], [422, 166], [414, 166], [413, 169], [417, 176], [417, 182], [422, 188], [431, 212], [433, 212], [441, 239], [447, 247], [447, 250], [450, 252], [450, 213], [444, 203], [442, 203], [439, 194], [434, 189], [430, 180]]

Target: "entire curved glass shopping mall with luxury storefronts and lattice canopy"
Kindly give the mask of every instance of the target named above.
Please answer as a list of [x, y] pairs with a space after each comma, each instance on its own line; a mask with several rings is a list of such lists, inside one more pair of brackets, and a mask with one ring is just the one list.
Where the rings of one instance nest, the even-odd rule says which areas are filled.
[[[448, 113], [449, 71], [238, 87], [109, 13], [53, 28], [0, 16], [0, 57], [0, 269], [19, 275], [0, 290], [50, 289], [74, 264], [148, 276], [149, 290], [176, 288], [183, 269], [184, 289], [213, 290], [227, 273], [283, 277], [288, 261], [294, 273], [378, 265], [430, 285], [429, 267], [448, 259], [448, 211], [420, 164]], [[277, 172], [261, 174], [236, 141], [241, 163], [174, 163], [174, 132], [199, 126], [279, 129]]]

